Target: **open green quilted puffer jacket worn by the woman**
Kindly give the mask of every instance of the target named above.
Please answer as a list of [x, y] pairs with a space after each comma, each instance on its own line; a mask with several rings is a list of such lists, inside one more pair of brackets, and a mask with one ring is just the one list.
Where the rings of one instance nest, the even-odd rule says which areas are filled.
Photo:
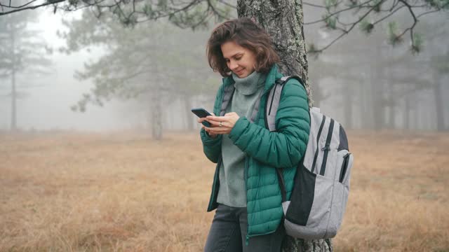
[[[241, 116], [229, 133], [229, 139], [246, 153], [245, 181], [248, 211], [248, 235], [267, 235], [276, 231], [283, 217], [281, 190], [279, 189], [276, 167], [283, 168], [287, 199], [293, 188], [296, 167], [305, 153], [309, 140], [310, 118], [307, 94], [304, 87], [290, 79], [283, 87], [281, 102], [276, 114], [276, 132], [269, 132], [265, 123], [265, 108], [269, 90], [283, 75], [278, 66], [270, 69], [265, 80], [264, 93], [254, 123]], [[223, 85], [217, 92], [213, 112], [220, 115], [224, 90], [234, 84], [232, 76], [223, 78]], [[220, 187], [219, 169], [221, 162], [221, 140], [208, 137], [201, 130], [203, 151], [206, 157], [217, 163], [213, 179], [212, 194], [208, 211], [217, 208], [217, 195]]]

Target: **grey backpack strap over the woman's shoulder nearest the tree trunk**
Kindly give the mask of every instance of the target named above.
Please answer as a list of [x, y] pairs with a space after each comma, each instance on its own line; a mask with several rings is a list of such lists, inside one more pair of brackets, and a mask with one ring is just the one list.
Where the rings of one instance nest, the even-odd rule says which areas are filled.
[[301, 85], [306, 88], [304, 82], [299, 76], [284, 76], [278, 80], [272, 87], [272, 90], [269, 91], [268, 99], [267, 99], [267, 107], [265, 109], [265, 120], [267, 122], [267, 127], [270, 132], [276, 131], [276, 113], [279, 108], [279, 102], [281, 102], [281, 94], [284, 87], [284, 84], [288, 82], [291, 78], [298, 80]]

